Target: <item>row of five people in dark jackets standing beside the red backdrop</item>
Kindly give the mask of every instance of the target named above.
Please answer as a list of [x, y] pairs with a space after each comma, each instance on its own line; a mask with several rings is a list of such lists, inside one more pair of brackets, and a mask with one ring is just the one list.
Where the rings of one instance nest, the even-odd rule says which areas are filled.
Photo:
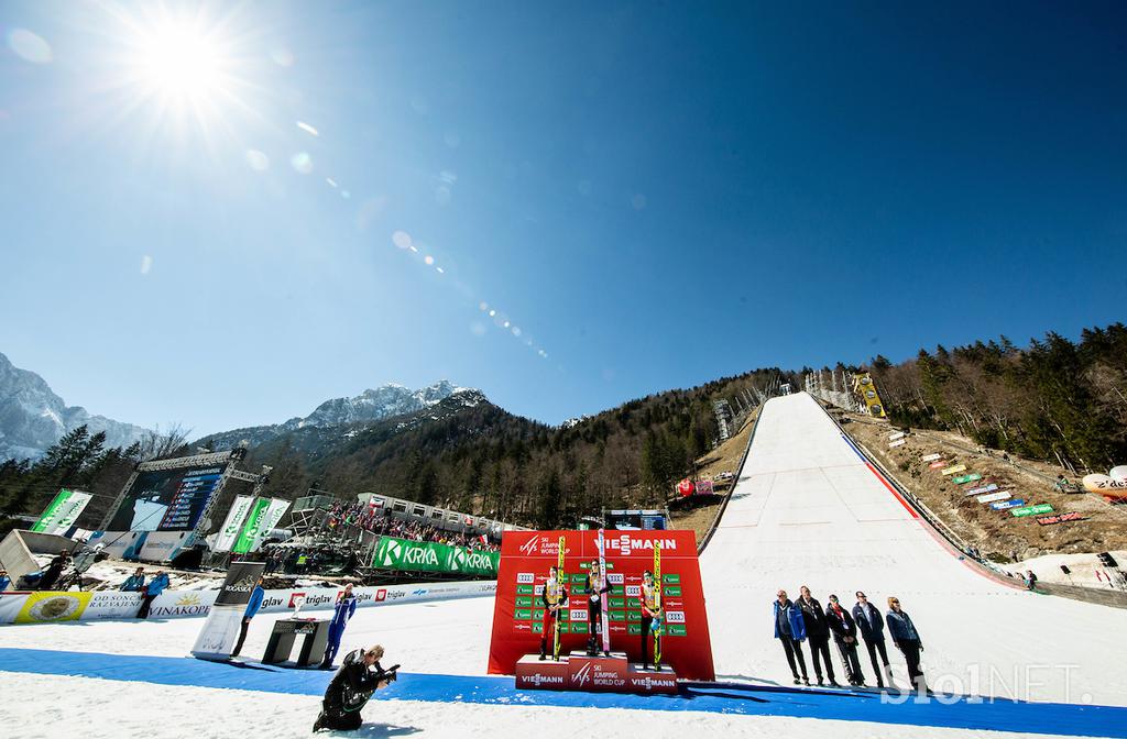
[[[853, 606], [852, 611], [842, 606], [836, 595], [831, 595], [828, 605], [823, 608], [805, 585], [801, 587], [798, 600], [792, 602], [787, 597], [786, 590], [779, 590], [774, 602], [775, 639], [782, 642], [783, 651], [787, 653], [787, 662], [795, 676], [795, 685], [810, 684], [806, 671], [806, 658], [802, 655], [802, 642], [809, 641], [814, 674], [818, 685], [825, 685], [822, 677], [824, 662], [829, 685], [841, 687], [834, 676], [834, 666], [829, 659], [829, 638], [832, 635], [841, 655], [842, 666], [845, 668], [845, 679], [849, 680], [850, 685], [864, 685], [864, 675], [861, 671], [861, 661], [857, 653], [859, 640], [864, 640], [869, 650], [869, 659], [872, 661], [872, 670], [877, 676], [877, 687], [885, 687], [886, 679], [888, 687], [895, 687], [891, 668], [888, 665], [888, 651], [885, 649], [886, 625], [889, 638], [907, 662], [908, 679], [912, 686], [917, 691], [925, 692], [928, 686], [924, 683], [923, 670], [920, 669], [920, 652], [923, 651], [923, 642], [915, 624], [912, 623], [912, 617], [900, 608], [900, 602], [897, 598], [888, 598], [888, 613], [884, 616], [877, 606], [869, 603], [869, 598], [861, 590], [857, 591], [857, 605]], [[799, 677], [799, 669], [801, 677]]]

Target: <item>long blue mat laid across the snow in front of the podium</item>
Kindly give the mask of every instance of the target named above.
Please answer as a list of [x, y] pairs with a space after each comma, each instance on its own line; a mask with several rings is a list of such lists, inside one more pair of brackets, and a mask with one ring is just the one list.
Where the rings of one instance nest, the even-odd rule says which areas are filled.
[[[192, 658], [38, 649], [0, 649], [0, 671], [316, 696], [325, 693], [325, 686], [332, 676], [329, 671], [282, 669], [254, 662], [208, 662]], [[965, 696], [943, 696], [943, 702], [917, 702], [911, 698], [905, 703], [894, 704], [881, 703], [880, 695], [875, 692], [790, 689], [724, 683], [690, 684], [676, 696], [640, 696], [517, 691], [511, 677], [401, 673], [391, 688], [381, 691], [373, 700], [706, 711], [1127, 739], [1127, 709], [1116, 706], [1024, 703]]]

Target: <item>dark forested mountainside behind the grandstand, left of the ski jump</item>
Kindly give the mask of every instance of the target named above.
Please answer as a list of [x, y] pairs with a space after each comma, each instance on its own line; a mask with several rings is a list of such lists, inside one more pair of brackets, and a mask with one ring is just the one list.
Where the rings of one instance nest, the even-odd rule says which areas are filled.
[[312, 453], [300, 436], [283, 436], [251, 449], [248, 460], [274, 468], [275, 492], [304, 491], [316, 481], [335, 495], [381, 492], [521, 524], [570, 526], [603, 507], [664, 501], [716, 442], [713, 401], [735, 402], [780, 376], [791, 379], [760, 370], [632, 400], [562, 427], [488, 401], [461, 407], [453, 397], [423, 420], [349, 428]]

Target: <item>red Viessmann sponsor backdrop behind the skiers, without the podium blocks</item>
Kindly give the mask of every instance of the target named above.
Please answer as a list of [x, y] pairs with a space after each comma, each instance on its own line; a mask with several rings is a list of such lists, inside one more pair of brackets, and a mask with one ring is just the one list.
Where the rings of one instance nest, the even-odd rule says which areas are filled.
[[[548, 568], [558, 562], [565, 538], [565, 580], [569, 607], [560, 618], [560, 653], [586, 649], [588, 564], [598, 558], [597, 532], [506, 532], [502, 543], [497, 598], [494, 605], [489, 673], [513, 675], [525, 655], [539, 653], [543, 608], [540, 594]], [[654, 547], [662, 546], [662, 605], [666, 625], [662, 661], [689, 679], [716, 679], [708, 615], [691, 531], [606, 532], [606, 571], [612, 587], [606, 596], [611, 649], [641, 660], [642, 572], [653, 569]]]

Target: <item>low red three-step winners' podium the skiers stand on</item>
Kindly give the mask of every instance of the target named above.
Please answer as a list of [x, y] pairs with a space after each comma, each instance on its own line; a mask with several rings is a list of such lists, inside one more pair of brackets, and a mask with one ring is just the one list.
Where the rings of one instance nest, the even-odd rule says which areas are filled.
[[573, 651], [559, 661], [540, 655], [525, 655], [516, 662], [516, 687], [531, 691], [587, 691], [594, 693], [639, 693], [642, 695], [677, 692], [677, 674], [668, 665], [642, 669], [630, 662], [625, 652], [610, 657], [589, 657]]

